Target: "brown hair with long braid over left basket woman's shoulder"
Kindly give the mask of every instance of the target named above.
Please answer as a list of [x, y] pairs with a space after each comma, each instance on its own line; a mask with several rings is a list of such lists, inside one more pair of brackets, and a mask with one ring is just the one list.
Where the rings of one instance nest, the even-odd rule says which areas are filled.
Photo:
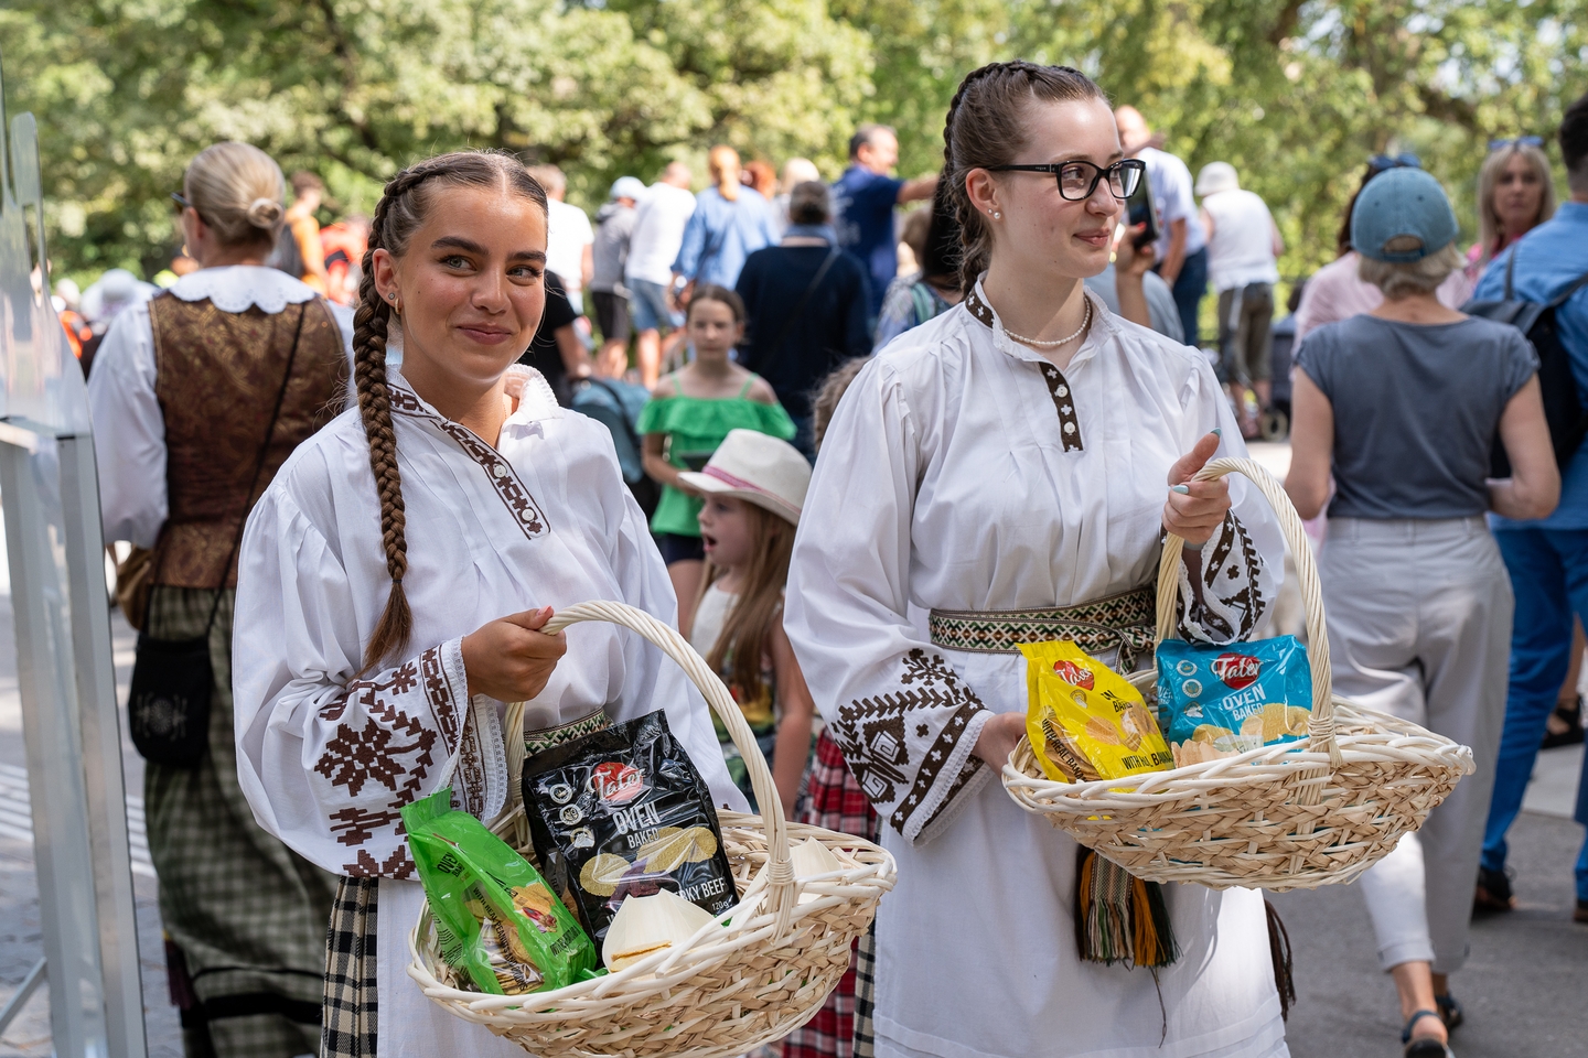
[[[391, 390], [386, 382], [386, 336], [392, 306], [375, 290], [375, 251], [392, 257], [408, 251], [408, 241], [424, 224], [435, 189], [441, 184], [505, 187], [546, 209], [546, 192], [510, 154], [454, 151], [405, 168], [386, 182], [370, 220], [368, 249], [364, 251], [364, 278], [359, 281], [359, 308], [353, 316], [353, 384], [359, 419], [370, 443], [370, 470], [381, 498], [381, 547], [391, 595], [364, 647], [364, 669], [405, 649], [413, 633], [413, 611], [402, 581], [408, 573], [407, 514], [402, 501], [402, 474], [397, 470], [397, 435], [392, 430]], [[400, 320], [399, 320], [400, 324]]]

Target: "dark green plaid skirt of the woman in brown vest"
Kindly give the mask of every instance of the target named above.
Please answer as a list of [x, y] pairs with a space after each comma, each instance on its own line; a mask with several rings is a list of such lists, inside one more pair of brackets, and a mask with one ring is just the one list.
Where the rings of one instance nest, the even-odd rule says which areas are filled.
[[[160, 882], [172, 1002], [189, 1055], [291, 1058], [321, 1036], [326, 920], [337, 877], [267, 834], [237, 780], [232, 596], [210, 633], [210, 752], [198, 768], [146, 763], [149, 858]], [[214, 592], [159, 585], [145, 630], [202, 636]]]

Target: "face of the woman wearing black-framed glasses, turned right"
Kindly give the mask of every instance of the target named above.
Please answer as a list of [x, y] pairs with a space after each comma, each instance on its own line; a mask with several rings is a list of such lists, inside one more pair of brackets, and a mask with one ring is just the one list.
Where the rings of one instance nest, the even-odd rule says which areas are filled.
[[[1113, 114], [1099, 98], [1029, 103], [1024, 128], [1016, 165], [1080, 160], [1108, 167], [1124, 157]], [[992, 255], [1008, 257], [1018, 271], [1083, 279], [1108, 266], [1124, 203], [1113, 197], [1107, 178], [1083, 201], [1064, 198], [1051, 173], [972, 170], [966, 189], [991, 224]]]

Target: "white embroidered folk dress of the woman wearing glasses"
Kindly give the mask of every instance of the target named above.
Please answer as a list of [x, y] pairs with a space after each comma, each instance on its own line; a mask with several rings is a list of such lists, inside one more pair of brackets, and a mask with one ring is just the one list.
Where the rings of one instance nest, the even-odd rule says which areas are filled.
[[[1245, 455], [1228, 401], [1199, 352], [1089, 292], [1091, 333], [1061, 373], [977, 290], [843, 397], [789, 576], [789, 639], [899, 860], [877, 918], [877, 1055], [1286, 1055], [1258, 891], [1164, 887], [1183, 953], [1156, 983], [1077, 960], [1077, 845], [970, 753], [989, 715], [1026, 711], [1024, 660], [926, 633], [934, 608], [1064, 608], [1153, 582], [1170, 465], [1213, 427], [1220, 454]], [[1250, 634], [1282, 569], [1262, 496], [1240, 479], [1231, 496], [1205, 606], [1183, 622], [1199, 638]]]

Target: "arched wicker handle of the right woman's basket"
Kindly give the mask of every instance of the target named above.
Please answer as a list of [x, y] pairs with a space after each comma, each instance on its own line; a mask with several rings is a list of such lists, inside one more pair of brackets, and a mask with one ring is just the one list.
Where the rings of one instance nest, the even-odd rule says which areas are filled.
[[[1248, 458], [1218, 458], [1196, 474], [1196, 481], [1216, 481], [1226, 474], [1245, 474], [1274, 508], [1280, 520], [1280, 533], [1296, 563], [1302, 608], [1307, 611], [1307, 660], [1312, 665], [1312, 719], [1307, 722], [1309, 749], [1329, 753], [1331, 768], [1343, 763], [1340, 746], [1334, 738], [1334, 693], [1329, 669], [1329, 631], [1323, 619], [1323, 585], [1318, 582], [1318, 563], [1307, 542], [1307, 530], [1301, 516], [1285, 493], [1280, 479]], [[1175, 601], [1180, 595], [1180, 552], [1185, 539], [1169, 533], [1164, 554], [1158, 563], [1158, 641], [1175, 638]]]

